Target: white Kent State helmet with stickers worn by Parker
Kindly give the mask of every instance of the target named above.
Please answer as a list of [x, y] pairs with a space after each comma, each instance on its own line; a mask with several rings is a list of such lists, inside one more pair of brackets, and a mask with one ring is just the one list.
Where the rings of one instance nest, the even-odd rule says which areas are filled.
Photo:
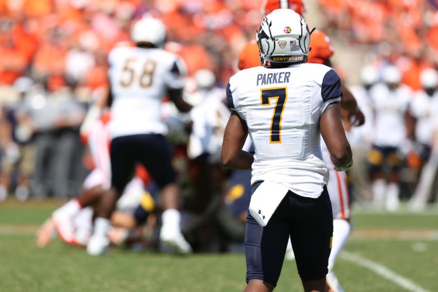
[[310, 43], [309, 27], [291, 9], [276, 9], [263, 19], [256, 33], [260, 61], [272, 63], [306, 62]]

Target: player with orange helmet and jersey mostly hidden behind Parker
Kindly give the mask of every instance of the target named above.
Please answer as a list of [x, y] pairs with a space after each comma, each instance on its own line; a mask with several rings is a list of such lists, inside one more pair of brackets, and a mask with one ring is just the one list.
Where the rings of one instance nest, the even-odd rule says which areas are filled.
[[[301, 16], [304, 15], [305, 6], [302, 0], [267, 0], [262, 4], [262, 11], [270, 13], [271, 11], [279, 8], [292, 9]], [[316, 36], [315, 36], [316, 35]], [[254, 42], [256, 46], [256, 42]], [[286, 44], [287, 46], [288, 44]], [[255, 54], [259, 55], [258, 47], [255, 53], [252, 48], [253, 45], [249, 43], [244, 51], [239, 56], [239, 69], [246, 69], [256, 66], [254, 62]], [[311, 52], [308, 56], [308, 63], [319, 63], [331, 67], [330, 57], [334, 53], [334, 49], [330, 43], [329, 37], [320, 31], [314, 31], [310, 39]], [[251, 53], [251, 54], [248, 54]], [[248, 55], [253, 55], [251, 59]], [[240, 68], [246, 66], [245, 68]], [[341, 114], [343, 117], [344, 128], [346, 131], [351, 129], [352, 126], [362, 126], [365, 122], [365, 116], [362, 113], [362, 108], [358, 107], [357, 102], [353, 94], [345, 87], [342, 82], [343, 97], [341, 100]], [[354, 127], [356, 128], [356, 127]], [[362, 127], [361, 127], [362, 128]], [[350, 203], [349, 193], [347, 185], [347, 175], [345, 172], [337, 172], [334, 170], [334, 165], [330, 161], [329, 152], [324, 141], [321, 141], [321, 150], [323, 154], [323, 160], [329, 170], [329, 182], [327, 189], [329, 191], [330, 201], [333, 210], [333, 242], [332, 250], [329, 257], [329, 273], [327, 274], [327, 283], [329, 285], [330, 292], [343, 292], [336, 275], [334, 274], [333, 267], [336, 261], [336, 257], [347, 242], [348, 235], [350, 233]], [[239, 171], [242, 172], [242, 171]], [[249, 182], [248, 182], [249, 183]], [[234, 190], [234, 189], [233, 189]], [[246, 214], [245, 214], [246, 217]], [[288, 244], [286, 250], [286, 259], [292, 260], [295, 256], [293, 254], [291, 243]]]

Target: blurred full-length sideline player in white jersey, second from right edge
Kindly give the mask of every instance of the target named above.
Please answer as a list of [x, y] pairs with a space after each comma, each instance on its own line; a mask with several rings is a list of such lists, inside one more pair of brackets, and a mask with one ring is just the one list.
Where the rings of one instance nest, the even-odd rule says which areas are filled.
[[[373, 146], [368, 154], [374, 204], [378, 208], [395, 211], [399, 201], [399, 153], [409, 148], [412, 132], [406, 126], [406, 115], [412, 92], [400, 84], [401, 73], [395, 66], [386, 66], [382, 72], [383, 83], [370, 90], [374, 116]], [[390, 168], [385, 176], [383, 164]]]

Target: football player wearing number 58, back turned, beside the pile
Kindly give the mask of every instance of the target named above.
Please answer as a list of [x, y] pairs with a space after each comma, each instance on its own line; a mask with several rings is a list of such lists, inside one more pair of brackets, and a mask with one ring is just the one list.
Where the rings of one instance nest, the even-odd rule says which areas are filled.
[[192, 107], [183, 100], [185, 67], [177, 55], [164, 51], [164, 24], [145, 17], [132, 25], [136, 47], [119, 47], [109, 55], [111, 188], [96, 207], [94, 233], [87, 245], [91, 255], [106, 253], [110, 216], [114, 211], [135, 164], [143, 164], [161, 189], [162, 242], [181, 253], [191, 252], [184, 239], [179, 212], [180, 189], [171, 165], [171, 153], [164, 139], [167, 128], [161, 119], [161, 102], [169, 96], [178, 110]]

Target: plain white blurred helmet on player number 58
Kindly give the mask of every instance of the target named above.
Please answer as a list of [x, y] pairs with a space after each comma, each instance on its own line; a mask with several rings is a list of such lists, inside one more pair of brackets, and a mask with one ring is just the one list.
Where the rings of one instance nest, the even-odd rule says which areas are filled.
[[166, 27], [157, 18], [143, 17], [132, 25], [131, 38], [135, 43], [150, 43], [157, 48], [163, 48]]

